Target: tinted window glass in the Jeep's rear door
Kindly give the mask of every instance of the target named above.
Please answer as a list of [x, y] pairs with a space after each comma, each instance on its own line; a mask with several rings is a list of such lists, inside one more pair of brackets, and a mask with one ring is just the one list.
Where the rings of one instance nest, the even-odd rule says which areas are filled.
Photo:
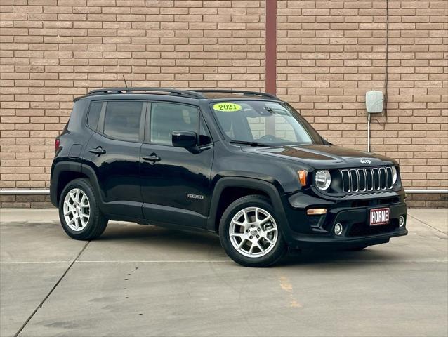
[[138, 141], [142, 119], [143, 102], [107, 102], [103, 133], [112, 138]]

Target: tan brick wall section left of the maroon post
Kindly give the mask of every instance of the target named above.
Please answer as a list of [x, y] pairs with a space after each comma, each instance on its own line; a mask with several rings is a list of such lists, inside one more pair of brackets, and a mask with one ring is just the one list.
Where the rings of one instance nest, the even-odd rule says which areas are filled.
[[123, 75], [130, 86], [264, 88], [264, 1], [0, 3], [3, 188], [48, 187], [73, 98], [124, 86]]

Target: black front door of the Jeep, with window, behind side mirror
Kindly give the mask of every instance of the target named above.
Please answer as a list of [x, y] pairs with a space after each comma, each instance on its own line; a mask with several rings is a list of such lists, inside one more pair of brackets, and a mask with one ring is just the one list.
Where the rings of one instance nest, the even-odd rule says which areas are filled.
[[[213, 147], [191, 152], [171, 145], [172, 131], [199, 131], [199, 110], [174, 103], [152, 103], [150, 133], [141, 149], [143, 215], [153, 222], [205, 227]], [[211, 142], [209, 136], [203, 136]]]

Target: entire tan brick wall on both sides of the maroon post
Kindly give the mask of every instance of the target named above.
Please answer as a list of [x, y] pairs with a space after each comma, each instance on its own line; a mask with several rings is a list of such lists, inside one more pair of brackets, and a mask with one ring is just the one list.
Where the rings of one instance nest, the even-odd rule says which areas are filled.
[[[268, 0], [271, 1], [271, 0]], [[55, 136], [91, 88], [264, 90], [265, 1], [0, 0], [1, 188], [46, 188]], [[448, 2], [389, 1], [388, 116], [371, 149], [405, 187], [448, 187]], [[386, 1], [278, 1], [277, 86], [332, 143], [364, 150], [384, 90]], [[44, 196], [0, 196], [41, 206]]]

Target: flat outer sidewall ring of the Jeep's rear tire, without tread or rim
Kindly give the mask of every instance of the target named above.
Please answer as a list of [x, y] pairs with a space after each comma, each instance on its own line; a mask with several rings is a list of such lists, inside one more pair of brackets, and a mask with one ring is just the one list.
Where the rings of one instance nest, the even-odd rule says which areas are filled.
[[[64, 200], [67, 196], [67, 193], [70, 192], [70, 190], [73, 190], [74, 188], [78, 188], [79, 190], [82, 190], [87, 197], [88, 202], [90, 204], [90, 216], [88, 217], [88, 222], [86, 227], [84, 227], [82, 230], [75, 231], [72, 230], [65, 221], [64, 216]], [[59, 199], [59, 220], [62, 225], [62, 228], [65, 230], [65, 232], [70, 235], [70, 237], [76, 238], [76, 239], [84, 239], [92, 230], [95, 222], [95, 218], [97, 216], [98, 207], [96, 204], [95, 194], [93, 194], [92, 187], [86, 183], [85, 180], [82, 179], [76, 179], [71, 181], [70, 183], [65, 186], [64, 190], [62, 190], [62, 194], [60, 195]]]

